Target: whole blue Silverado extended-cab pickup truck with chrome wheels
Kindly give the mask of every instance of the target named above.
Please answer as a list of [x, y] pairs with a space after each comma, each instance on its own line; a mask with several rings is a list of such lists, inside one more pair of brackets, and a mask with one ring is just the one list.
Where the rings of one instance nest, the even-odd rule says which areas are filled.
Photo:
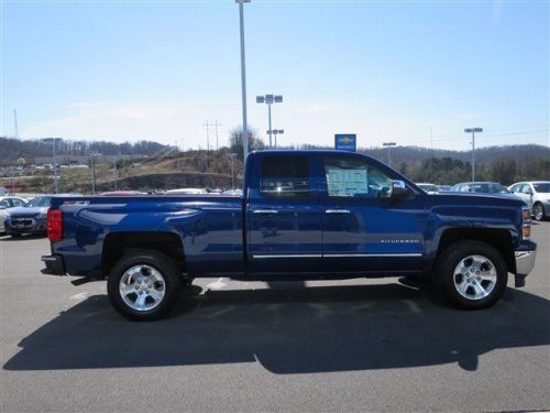
[[432, 280], [485, 308], [508, 273], [524, 286], [537, 246], [521, 200], [429, 195], [387, 165], [342, 151], [249, 155], [242, 196], [54, 198], [44, 273], [107, 278], [123, 316], [165, 314], [195, 278]]

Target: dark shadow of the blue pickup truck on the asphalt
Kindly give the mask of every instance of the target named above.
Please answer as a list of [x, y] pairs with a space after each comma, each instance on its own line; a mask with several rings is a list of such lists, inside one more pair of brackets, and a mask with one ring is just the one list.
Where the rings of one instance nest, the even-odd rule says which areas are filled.
[[277, 374], [458, 363], [550, 344], [550, 303], [508, 290], [464, 312], [399, 284], [187, 294], [170, 317], [131, 323], [95, 295], [25, 337], [7, 370], [260, 362]]

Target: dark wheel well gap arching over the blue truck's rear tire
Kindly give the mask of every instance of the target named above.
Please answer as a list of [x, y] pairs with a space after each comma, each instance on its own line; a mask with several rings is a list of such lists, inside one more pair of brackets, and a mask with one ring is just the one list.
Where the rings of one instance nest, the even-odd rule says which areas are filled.
[[182, 239], [172, 232], [117, 232], [109, 233], [103, 242], [101, 270], [109, 275], [114, 263], [130, 249], [156, 250], [172, 258], [179, 272], [186, 271]]

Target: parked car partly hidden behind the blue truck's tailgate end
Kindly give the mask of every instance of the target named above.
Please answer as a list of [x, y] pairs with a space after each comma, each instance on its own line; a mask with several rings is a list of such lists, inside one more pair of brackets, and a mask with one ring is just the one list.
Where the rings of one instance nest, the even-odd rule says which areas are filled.
[[54, 197], [78, 196], [76, 194], [40, 195], [24, 206], [6, 211], [4, 229], [11, 237], [21, 237], [23, 233], [46, 233], [47, 209]]

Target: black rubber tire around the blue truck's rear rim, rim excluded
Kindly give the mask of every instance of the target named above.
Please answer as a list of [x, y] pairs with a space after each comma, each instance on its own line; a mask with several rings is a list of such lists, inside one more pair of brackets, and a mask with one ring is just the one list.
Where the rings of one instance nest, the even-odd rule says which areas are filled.
[[[164, 281], [164, 296], [151, 309], [134, 309], [124, 302], [120, 293], [120, 282], [125, 272], [139, 265], [156, 270]], [[107, 280], [107, 293], [111, 305], [123, 317], [134, 322], [151, 322], [165, 315], [172, 307], [178, 286], [179, 280], [174, 261], [158, 251], [147, 249], [132, 249], [124, 253], [117, 261]]]

